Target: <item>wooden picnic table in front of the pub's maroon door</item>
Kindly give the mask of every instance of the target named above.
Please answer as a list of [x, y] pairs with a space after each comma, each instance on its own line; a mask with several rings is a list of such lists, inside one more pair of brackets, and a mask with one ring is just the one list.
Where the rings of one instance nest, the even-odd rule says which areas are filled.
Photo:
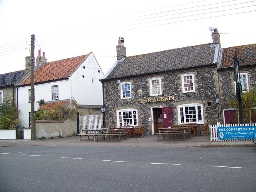
[[176, 128], [167, 127], [167, 128], [158, 128], [158, 133], [156, 134], [158, 134], [158, 141], [159, 141], [160, 135], [163, 135], [164, 139], [165, 139], [165, 135], [170, 135], [170, 138], [172, 138], [173, 135], [180, 135], [180, 137], [181, 135], [184, 135], [183, 140], [185, 140], [186, 135], [188, 135], [188, 138], [189, 138], [190, 131], [188, 127], [183, 127], [183, 126], [176, 127]]

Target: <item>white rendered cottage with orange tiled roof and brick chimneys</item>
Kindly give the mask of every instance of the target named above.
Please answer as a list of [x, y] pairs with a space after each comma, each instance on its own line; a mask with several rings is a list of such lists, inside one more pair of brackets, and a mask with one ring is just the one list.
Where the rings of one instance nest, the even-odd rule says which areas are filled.
[[[29, 63], [30, 58], [26, 57]], [[36, 58], [34, 70], [35, 111], [37, 101], [44, 98], [46, 103], [76, 100], [80, 115], [101, 114], [102, 83], [104, 76], [94, 54], [46, 62], [46, 58]], [[17, 106], [19, 118], [26, 127], [30, 126], [30, 74], [17, 85]]]

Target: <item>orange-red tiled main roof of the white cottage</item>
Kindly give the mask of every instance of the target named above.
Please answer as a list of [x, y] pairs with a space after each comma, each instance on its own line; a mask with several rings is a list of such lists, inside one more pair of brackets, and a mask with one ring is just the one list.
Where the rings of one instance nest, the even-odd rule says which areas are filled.
[[[89, 55], [90, 53], [78, 57], [47, 62], [35, 70], [34, 83], [40, 84], [70, 77]], [[30, 76], [21, 85], [28, 84], [30, 84]]]

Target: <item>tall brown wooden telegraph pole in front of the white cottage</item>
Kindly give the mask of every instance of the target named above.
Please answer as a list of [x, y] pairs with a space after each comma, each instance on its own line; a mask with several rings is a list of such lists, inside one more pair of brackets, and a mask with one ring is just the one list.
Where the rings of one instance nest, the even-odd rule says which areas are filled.
[[31, 53], [30, 53], [30, 94], [31, 94], [31, 110], [30, 110], [30, 126], [31, 140], [36, 138], [35, 124], [35, 93], [34, 93], [34, 66], [35, 66], [35, 35], [31, 35]]

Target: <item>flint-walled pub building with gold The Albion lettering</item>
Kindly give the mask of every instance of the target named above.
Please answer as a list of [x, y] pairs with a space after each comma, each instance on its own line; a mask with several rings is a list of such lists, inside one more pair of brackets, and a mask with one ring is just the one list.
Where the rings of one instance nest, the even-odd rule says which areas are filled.
[[[119, 38], [117, 61], [101, 79], [106, 127], [141, 125], [145, 135], [154, 135], [160, 127], [224, 123], [224, 110], [236, 111], [221, 103], [225, 96], [235, 96], [234, 66], [222, 58], [225, 49], [217, 29], [212, 39], [208, 44], [126, 56], [124, 38]], [[234, 53], [225, 53], [232, 59]], [[255, 81], [255, 61], [250, 73]], [[228, 118], [236, 119], [234, 115]]]

